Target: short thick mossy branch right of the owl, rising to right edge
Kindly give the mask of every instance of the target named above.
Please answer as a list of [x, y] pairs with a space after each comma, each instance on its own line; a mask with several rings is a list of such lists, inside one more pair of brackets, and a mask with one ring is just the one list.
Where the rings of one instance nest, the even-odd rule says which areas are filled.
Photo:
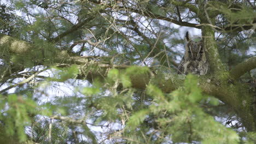
[[247, 59], [245, 62], [237, 64], [234, 68], [232, 68], [229, 71], [229, 73], [232, 78], [238, 79], [243, 74], [255, 68], [256, 68], [256, 56]]

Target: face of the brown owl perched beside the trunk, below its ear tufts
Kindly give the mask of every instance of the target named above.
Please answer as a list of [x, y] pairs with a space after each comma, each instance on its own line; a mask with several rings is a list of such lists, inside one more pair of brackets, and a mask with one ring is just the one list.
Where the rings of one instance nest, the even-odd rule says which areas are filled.
[[202, 41], [195, 42], [189, 40], [185, 50], [185, 55], [187, 54], [190, 60], [200, 61], [204, 52], [202, 49]]

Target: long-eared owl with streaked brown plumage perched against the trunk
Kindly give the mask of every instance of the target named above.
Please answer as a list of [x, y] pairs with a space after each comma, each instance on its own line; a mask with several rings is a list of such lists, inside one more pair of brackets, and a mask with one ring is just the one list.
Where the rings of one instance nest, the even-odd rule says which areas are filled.
[[181, 63], [178, 67], [178, 74], [188, 73], [196, 75], [205, 75], [209, 69], [209, 63], [205, 55], [205, 48], [202, 45], [202, 40], [195, 42], [191, 40], [189, 32], [185, 34], [187, 45]]

